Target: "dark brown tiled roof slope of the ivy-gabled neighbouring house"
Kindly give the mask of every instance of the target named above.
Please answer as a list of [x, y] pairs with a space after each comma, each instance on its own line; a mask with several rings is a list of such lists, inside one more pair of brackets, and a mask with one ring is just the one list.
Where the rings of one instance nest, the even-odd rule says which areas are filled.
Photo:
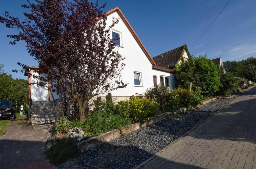
[[157, 66], [170, 67], [172, 65], [175, 65], [179, 61], [182, 49], [183, 46], [177, 47], [176, 49], [153, 57], [153, 60], [155, 61]]

